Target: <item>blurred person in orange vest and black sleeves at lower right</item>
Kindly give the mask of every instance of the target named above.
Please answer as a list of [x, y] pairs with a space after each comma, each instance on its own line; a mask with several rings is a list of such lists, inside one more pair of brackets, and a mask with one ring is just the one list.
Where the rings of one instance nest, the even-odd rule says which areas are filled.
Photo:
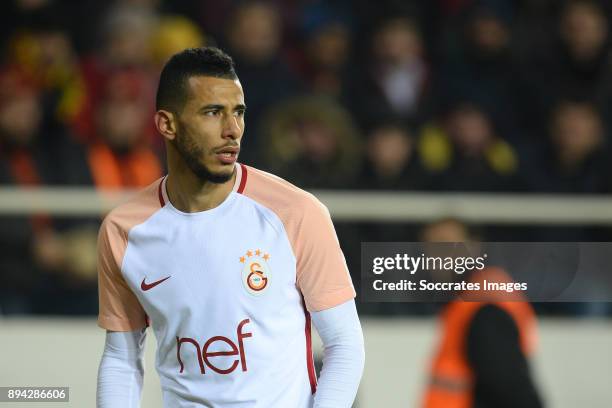
[[[455, 219], [426, 226], [427, 242], [468, 242], [471, 233]], [[470, 276], [510, 282], [501, 268], [487, 267]], [[423, 408], [541, 408], [529, 369], [536, 343], [531, 304], [514, 292], [457, 297], [441, 315], [441, 337], [430, 366]]]

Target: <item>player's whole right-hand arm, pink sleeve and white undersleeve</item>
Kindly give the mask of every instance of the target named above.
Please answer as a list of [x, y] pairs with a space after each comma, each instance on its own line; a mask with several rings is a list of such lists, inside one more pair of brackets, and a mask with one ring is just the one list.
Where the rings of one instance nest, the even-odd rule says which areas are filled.
[[325, 351], [313, 408], [350, 408], [365, 360], [355, 289], [327, 208], [309, 194], [296, 203], [297, 219], [283, 222], [295, 254], [296, 286]]

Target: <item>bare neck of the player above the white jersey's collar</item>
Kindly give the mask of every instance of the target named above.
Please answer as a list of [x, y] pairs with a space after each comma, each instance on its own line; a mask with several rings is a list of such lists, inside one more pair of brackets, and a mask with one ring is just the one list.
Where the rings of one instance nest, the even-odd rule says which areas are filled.
[[202, 181], [189, 169], [174, 169], [168, 173], [166, 192], [172, 205], [179, 211], [206, 211], [225, 201], [234, 187], [235, 180], [236, 171], [228, 181], [219, 184]]

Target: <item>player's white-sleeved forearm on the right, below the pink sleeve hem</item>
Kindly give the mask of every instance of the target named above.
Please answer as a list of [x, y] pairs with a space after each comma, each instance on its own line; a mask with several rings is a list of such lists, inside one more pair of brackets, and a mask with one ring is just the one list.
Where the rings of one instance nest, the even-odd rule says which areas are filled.
[[314, 312], [312, 322], [324, 349], [313, 408], [349, 408], [357, 395], [365, 362], [355, 301]]

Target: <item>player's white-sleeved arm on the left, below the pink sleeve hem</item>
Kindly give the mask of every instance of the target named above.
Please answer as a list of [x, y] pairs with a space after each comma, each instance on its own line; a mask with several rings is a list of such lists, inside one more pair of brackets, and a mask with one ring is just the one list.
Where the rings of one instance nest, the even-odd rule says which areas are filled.
[[138, 408], [144, 378], [146, 328], [106, 332], [98, 369], [97, 408]]

